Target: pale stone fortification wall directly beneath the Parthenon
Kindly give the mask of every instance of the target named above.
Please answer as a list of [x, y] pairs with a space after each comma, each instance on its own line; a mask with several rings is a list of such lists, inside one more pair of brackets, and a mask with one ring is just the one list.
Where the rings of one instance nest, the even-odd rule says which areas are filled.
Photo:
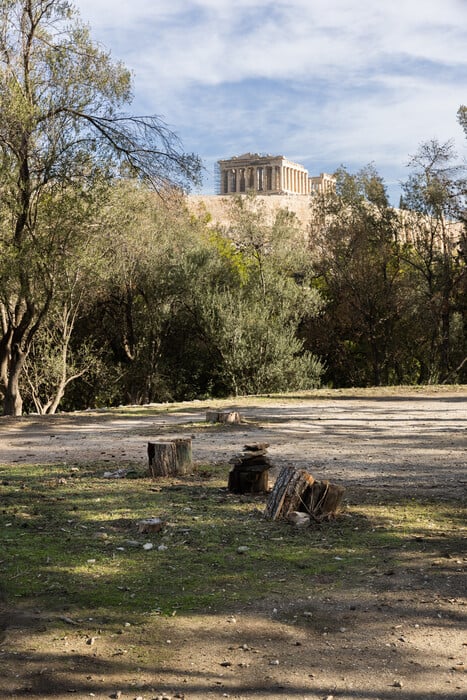
[[[260, 200], [268, 223], [272, 223], [279, 209], [287, 209], [297, 216], [304, 230], [308, 228], [311, 218], [311, 198], [308, 195], [256, 195], [256, 199]], [[189, 195], [187, 203], [189, 210], [196, 216], [209, 214], [213, 225], [228, 226], [230, 223], [233, 204], [231, 196]]]

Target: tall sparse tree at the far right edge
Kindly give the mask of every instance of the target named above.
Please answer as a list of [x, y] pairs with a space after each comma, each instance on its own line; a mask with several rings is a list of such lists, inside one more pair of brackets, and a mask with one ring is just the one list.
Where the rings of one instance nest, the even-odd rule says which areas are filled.
[[[465, 358], [465, 333], [459, 323], [460, 293], [466, 268], [459, 255], [463, 206], [463, 169], [451, 142], [421, 144], [411, 158], [403, 184], [406, 229], [402, 257], [412, 271], [418, 295], [418, 325], [423, 329], [416, 353], [422, 380], [444, 381]], [[464, 320], [465, 326], [465, 320]]]

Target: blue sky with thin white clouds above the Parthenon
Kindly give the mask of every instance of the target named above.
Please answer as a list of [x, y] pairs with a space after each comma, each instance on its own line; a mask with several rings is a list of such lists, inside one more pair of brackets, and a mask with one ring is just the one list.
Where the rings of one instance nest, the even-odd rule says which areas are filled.
[[467, 0], [75, 0], [157, 114], [215, 163], [283, 155], [310, 175], [373, 163], [393, 204], [421, 143], [467, 139]]

